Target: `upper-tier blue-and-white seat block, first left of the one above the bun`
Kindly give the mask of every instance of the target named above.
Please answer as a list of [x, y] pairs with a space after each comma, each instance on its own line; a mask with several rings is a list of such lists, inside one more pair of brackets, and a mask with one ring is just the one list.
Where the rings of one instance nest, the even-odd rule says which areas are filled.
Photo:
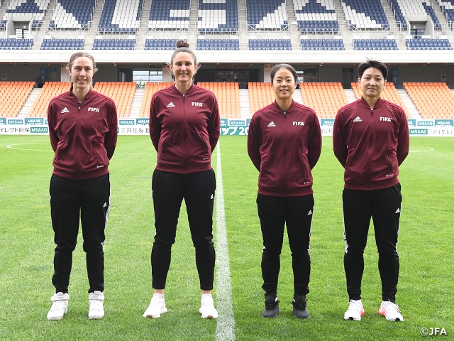
[[137, 32], [142, 6], [143, 0], [106, 0], [99, 20], [99, 32]]

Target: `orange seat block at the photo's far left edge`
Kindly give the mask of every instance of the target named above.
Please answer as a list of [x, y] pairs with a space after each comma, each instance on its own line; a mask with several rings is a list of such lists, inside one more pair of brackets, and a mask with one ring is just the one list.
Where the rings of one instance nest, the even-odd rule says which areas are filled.
[[16, 117], [35, 82], [0, 82], [0, 116]]

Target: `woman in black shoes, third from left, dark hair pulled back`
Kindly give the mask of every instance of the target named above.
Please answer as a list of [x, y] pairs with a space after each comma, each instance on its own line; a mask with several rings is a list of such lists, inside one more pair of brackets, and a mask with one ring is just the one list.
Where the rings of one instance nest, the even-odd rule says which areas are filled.
[[280, 312], [277, 280], [285, 224], [292, 251], [293, 313], [297, 318], [309, 318], [306, 295], [314, 213], [311, 169], [319, 161], [321, 129], [314, 110], [292, 99], [297, 80], [292, 66], [275, 65], [271, 87], [276, 100], [255, 112], [249, 125], [248, 154], [260, 172], [257, 207], [263, 237], [264, 318], [275, 318]]

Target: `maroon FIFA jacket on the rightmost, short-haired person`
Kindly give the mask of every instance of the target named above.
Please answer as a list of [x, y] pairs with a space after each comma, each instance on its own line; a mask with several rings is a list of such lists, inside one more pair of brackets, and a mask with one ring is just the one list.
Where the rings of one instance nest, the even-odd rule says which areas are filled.
[[378, 99], [373, 109], [363, 97], [339, 109], [333, 149], [345, 168], [345, 188], [380, 190], [399, 183], [399, 165], [409, 153], [404, 110]]

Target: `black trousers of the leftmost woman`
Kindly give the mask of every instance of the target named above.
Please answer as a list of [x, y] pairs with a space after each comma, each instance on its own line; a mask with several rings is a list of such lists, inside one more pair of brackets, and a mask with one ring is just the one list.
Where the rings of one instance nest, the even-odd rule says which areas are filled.
[[104, 229], [110, 207], [109, 174], [87, 180], [70, 180], [52, 175], [50, 215], [55, 232], [55, 292], [67, 293], [72, 268], [72, 251], [82, 222], [89, 293], [104, 291]]

